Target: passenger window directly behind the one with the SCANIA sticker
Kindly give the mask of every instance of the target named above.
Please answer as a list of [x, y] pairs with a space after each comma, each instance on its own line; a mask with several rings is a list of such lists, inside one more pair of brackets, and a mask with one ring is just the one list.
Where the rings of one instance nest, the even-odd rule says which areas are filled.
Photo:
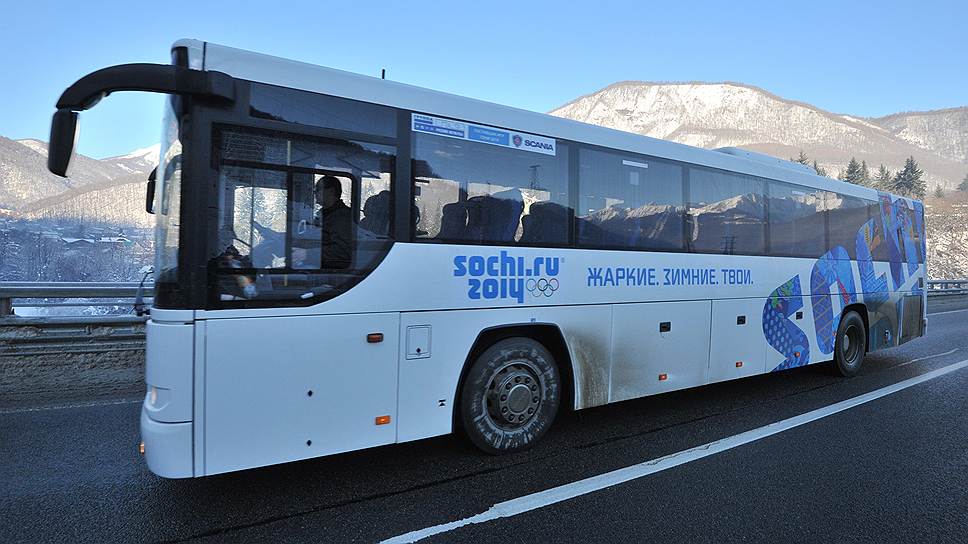
[[681, 250], [682, 170], [638, 155], [579, 152], [578, 243]]

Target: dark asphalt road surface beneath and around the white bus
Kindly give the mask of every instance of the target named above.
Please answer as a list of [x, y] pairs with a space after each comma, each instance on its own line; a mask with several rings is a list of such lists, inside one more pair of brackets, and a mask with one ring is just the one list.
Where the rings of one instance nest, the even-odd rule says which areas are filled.
[[[198, 480], [137, 454], [139, 404], [0, 411], [0, 542], [371, 542], [968, 359], [968, 299], [841, 379], [808, 367], [566, 414], [533, 450], [459, 437]], [[965, 542], [968, 368], [663, 472], [424, 542]]]

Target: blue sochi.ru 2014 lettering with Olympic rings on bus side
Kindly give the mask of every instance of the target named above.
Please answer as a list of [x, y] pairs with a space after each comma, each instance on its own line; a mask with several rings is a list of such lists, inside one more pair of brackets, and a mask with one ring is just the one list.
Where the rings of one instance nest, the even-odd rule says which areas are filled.
[[[524, 304], [526, 290], [550, 296], [557, 288], [558, 257], [512, 257], [507, 251], [498, 255], [458, 255], [454, 257], [454, 277], [467, 277], [467, 297], [471, 300], [512, 299]], [[526, 284], [545, 289], [526, 289]], [[537, 295], [536, 295], [537, 296]]]

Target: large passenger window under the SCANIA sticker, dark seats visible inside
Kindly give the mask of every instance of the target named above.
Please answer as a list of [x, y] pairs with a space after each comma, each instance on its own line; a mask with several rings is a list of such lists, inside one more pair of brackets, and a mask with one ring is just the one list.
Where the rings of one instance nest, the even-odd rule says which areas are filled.
[[568, 148], [555, 154], [414, 134], [416, 238], [565, 245]]

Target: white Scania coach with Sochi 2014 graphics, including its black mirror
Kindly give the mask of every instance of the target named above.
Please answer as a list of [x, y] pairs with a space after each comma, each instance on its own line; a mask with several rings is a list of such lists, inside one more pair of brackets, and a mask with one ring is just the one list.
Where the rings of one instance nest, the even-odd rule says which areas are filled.
[[195, 40], [68, 88], [170, 94], [141, 435], [169, 478], [583, 409], [924, 334], [921, 202]]

